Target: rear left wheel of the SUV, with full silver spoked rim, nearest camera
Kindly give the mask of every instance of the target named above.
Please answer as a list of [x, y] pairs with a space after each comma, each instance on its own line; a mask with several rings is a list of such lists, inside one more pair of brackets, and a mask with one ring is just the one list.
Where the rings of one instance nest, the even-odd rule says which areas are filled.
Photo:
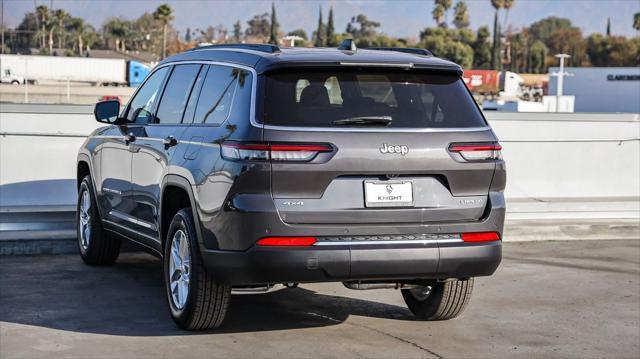
[[171, 317], [185, 330], [222, 324], [231, 287], [216, 282], [200, 257], [193, 214], [184, 208], [173, 217], [164, 248], [164, 279]]

